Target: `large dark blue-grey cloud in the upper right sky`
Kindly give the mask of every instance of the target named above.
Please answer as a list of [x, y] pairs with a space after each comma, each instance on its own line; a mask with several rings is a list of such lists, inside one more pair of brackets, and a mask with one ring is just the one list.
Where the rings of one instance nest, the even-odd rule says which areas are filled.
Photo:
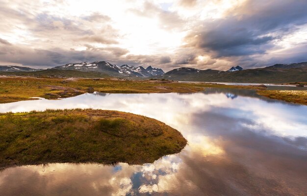
[[279, 0], [266, 5], [248, 1], [224, 19], [205, 22], [186, 40], [192, 46], [215, 52], [215, 57], [261, 54], [273, 47], [273, 40], [307, 24], [307, 14], [302, 9], [307, 1]]

